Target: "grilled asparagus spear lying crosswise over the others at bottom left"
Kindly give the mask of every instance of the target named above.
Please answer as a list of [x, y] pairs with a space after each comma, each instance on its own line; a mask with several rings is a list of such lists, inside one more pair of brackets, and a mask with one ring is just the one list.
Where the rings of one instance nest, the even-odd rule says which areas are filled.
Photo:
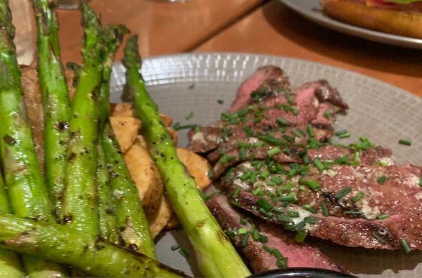
[[66, 263], [96, 277], [181, 277], [158, 261], [65, 225], [0, 214], [0, 246]]

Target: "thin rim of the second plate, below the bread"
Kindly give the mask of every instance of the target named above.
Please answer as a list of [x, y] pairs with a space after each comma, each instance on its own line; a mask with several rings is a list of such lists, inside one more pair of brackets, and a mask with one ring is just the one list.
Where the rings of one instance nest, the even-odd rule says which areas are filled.
[[416, 39], [412, 37], [404, 37], [396, 34], [389, 34], [385, 32], [379, 32], [364, 27], [350, 25], [345, 22], [334, 20], [324, 16], [322, 18], [317, 17], [314, 13], [304, 11], [300, 5], [291, 0], [280, 0], [281, 3], [292, 9], [296, 13], [299, 13], [304, 18], [311, 20], [319, 25], [333, 29], [337, 32], [352, 35], [354, 37], [361, 37], [369, 39], [370, 41], [377, 41], [382, 44], [390, 44], [395, 46], [402, 46], [407, 48], [422, 49], [422, 39]]

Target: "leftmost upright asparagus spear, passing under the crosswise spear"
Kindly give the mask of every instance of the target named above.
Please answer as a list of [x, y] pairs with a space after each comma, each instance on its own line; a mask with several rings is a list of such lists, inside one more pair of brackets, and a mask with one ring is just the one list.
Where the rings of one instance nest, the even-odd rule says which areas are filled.
[[[27, 121], [20, 69], [13, 45], [14, 27], [8, 1], [0, 1], [0, 153], [4, 178], [17, 216], [52, 221], [51, 207]], [[61, 277], [59, 265], [23, 256], [30, 277]]]

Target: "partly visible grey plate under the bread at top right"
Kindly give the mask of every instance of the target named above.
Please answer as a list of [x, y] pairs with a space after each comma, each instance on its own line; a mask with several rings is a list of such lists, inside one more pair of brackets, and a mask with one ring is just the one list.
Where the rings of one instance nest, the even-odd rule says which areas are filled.
[[411, 37], [403, 37], [395, 34], [388, 34], [384, 32], [373, 31], [363, 27], [347, 24], [340, 22], [333, 18], [328, 17], [321, 11], [320, 0], [280, 0], [293, 9], [300, 13], [305, 18], [312, 20], [316, 23], [324, 25], [325, 27], [334, 29], [338, 32], [351, 34], [353, 36], [370, 39], [371, 41], [378, 41], [385, 44], [394, 44], [396, 46], [405, 46], [410, 48], [422, 49], [422, 39], [416, 39]]

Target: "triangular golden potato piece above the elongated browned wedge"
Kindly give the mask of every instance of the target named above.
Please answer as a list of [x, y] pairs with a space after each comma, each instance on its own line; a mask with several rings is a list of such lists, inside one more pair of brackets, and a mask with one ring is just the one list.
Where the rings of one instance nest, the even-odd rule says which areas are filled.
[[141, 121], [133, 117], [110, 117], [111, 126], [119, 141], [122, 152], [127, 152], [134, 144], [138, 135]]

